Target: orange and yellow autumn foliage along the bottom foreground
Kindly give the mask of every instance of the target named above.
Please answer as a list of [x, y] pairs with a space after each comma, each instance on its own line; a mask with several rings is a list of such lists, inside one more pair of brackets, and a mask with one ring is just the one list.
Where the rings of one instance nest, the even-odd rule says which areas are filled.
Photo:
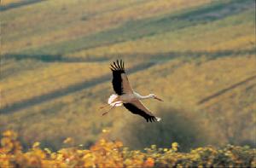
[[[72, 138], [64, 141], [73, 143]], [[178, 152], [177, 142], [170, 148], [152, 145], [143, 151], [125, 148], [122, 142], [100, 139], [90, 149], [81, 146], [61, 148], [52, 152], [35, 142], [26, 152], [17, 134], [3, 132], [0, 167], [255, 167], [256, 149], [227, 145], [224, 148], [195, 148], [189, 153]]]

